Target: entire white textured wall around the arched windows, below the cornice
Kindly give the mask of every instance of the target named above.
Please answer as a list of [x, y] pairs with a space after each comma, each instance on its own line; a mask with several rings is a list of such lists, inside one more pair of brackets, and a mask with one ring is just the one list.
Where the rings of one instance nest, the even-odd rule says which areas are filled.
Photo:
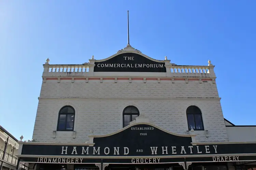
[[[75, 108], [76, 137], [72, 132], [57, 132], [58, 112], [64, 105]], [[42, 84], [33, 139], [39, 142], [85, 142], [88, 135], [108, 134], [122, 128], [122, 112], [128, 105], [138, 107], [150, 122], [174, 133], [188, 130], [186, 109], [198, 106], [204, 129], [195, 131], [198, 141], [227, 141], [226, 127], [216, 84], [211, 81], [132, 81], [47, 80]]]

